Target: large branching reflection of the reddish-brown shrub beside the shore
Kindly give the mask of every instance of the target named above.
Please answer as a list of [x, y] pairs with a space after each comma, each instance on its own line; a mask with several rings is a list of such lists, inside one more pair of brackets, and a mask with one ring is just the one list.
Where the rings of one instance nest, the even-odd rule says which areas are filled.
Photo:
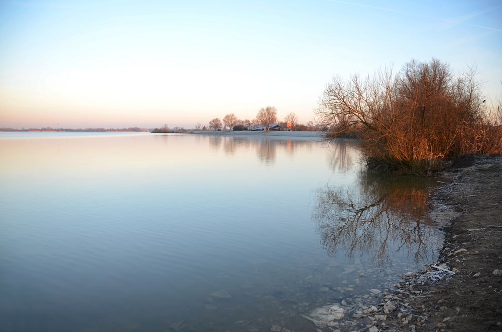
[[427, 215], [431, 181], [360, 171], [347, 188], [326, 186], [316, 195], [312, 219], [328, 254], [367, 256], [377, 265], [406, 253], [415, 263], [434, 255], [439, 233]]

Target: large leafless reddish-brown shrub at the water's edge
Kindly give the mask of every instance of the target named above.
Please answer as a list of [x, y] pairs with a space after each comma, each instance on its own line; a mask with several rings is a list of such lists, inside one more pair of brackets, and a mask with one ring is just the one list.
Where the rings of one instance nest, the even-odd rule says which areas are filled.
[[464, 154], [500, 153], [500, 117], [486, 113], [475, 71], [454, 76], [437, 59], [411, 61], [394, 75], [335, 77], [316, 110], [328, 137], [351, 131], [370, 165], [435, 173]]

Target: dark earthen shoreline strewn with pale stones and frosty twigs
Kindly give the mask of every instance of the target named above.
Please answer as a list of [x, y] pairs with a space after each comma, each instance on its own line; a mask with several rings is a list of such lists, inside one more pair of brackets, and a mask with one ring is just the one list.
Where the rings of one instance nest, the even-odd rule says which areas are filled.
[[437, 261], [304, 315], [318, 331], [502, 330], [502, 156], [466, 158], [441, 183], [430, 196], [445, 233]]

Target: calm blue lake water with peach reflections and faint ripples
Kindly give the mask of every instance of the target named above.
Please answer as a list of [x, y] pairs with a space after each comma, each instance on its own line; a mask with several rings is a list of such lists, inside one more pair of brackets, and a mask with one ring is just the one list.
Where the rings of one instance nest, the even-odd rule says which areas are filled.
[[1, 330], [310, 330], [441, 240], [434, 183], [350, 141], [1, 133], [0, 157]]

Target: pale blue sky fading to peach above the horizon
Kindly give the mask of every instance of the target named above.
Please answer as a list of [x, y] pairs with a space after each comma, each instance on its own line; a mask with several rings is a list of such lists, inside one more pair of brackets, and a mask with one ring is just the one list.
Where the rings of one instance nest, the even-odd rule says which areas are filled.
[[306, 123], [333, 76], [433, 57], [502, 97], [502, 2], [0, 0], [0, 127]]

